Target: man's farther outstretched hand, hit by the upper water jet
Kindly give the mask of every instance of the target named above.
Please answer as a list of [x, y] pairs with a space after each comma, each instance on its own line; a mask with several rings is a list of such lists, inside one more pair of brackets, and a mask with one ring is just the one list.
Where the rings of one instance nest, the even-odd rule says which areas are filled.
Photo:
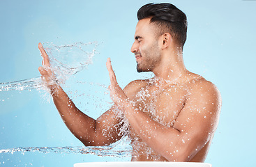
[[43, 58], [43, 66], [38, 67], [38, 70], [42, 75], [41, 79], [45, 81], [47, 87], [50, 88], [50, 90], [52, 91], [58, 85], [57, 78], [55, 77], [54, 72], [52, 72], [50, 68], [49, 56], [47, 55], [45, 49], [43, 49], [43, 45], [40, 42], [38, 44], [38, 49], [40, 50], [41, 56]]

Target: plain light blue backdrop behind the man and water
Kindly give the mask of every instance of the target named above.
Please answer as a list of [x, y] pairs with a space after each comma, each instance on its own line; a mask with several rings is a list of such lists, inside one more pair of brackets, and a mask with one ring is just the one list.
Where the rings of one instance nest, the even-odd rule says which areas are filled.
[[[253, 166], [255, 158], [256, 1], [170, 2], [188, 17], [183, 58], [188, 70], [219, 88], [223, 98], [218, 129], [206, 159], [213, 166]], [[112, 58], [121, 86], [149, 77], [137, 74], [130, 52], [137, 10], [149, 1], [0, 1], [0, 82], [38, 77], [38, 42], [97, 41], [93, 65], [73, 79], [110, 83], [105, 61]], [[72, 94], [73, 89], [78, 94]], [[80, 92], [92, 97], [78, 97]], [[101, 90], [102, 89], [102, 90]], [[70, 84], [77, 106], [97, 118], [110, 104], [100, 86]], [[80, 94], [79, 94], [80, 93]], [[0, 93], [0, 150], [82, 145], [63, 124], [49, 95], [38, 90]], [[100, 100], [99, 100], [100, 99]], [[87, 106], [85, 105], [87, 102]], [[96, 104], [104, 103], [103, 106]], [[105, 104], [106, 103], [106, 104]], [[94, 107], [94, 108], [93, 108]], [[73, 166], [84, 161], [129, 161], [91, 154], [21, 152], [0, 154], [0, 166]]]

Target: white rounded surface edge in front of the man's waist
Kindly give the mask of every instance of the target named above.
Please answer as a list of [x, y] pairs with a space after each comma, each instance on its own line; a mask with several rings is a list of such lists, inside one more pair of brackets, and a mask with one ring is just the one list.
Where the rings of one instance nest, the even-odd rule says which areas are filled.
[[158, 162], [158, 161], [120, 161], [86, 162], [74, 164], [74, 167], [211, 167], [211, 164], [197, 162]]

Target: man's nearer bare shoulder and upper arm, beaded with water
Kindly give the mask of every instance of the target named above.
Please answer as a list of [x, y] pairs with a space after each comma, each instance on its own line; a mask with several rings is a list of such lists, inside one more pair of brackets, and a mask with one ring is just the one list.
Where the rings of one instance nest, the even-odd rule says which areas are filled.
[[[173, 127], [180, 130], [184, 129], [184, 122], [188, 124], [188, 118], [193, 118], [191, 126], [188, 127], [195, 127], [197, 129], [195, 134], [198, 133], [199, 138], [209, 139], [212, 136], [208, 132], [213, 134], [212, 132], [215, 132], [217, 128], [220, 108], [220, 92], [211, 81], [207, 81], [203, 77], [190, 80], [185, 105]], [[195, 122], [198, 122], [198, 125]], [[202, 132], [205, 132], [204, 135]]]

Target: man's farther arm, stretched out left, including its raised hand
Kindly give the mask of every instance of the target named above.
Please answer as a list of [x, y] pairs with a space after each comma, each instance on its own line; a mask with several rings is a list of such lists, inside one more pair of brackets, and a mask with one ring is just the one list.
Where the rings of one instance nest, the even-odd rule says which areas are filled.
[[84, 145], [110, 145], [118, 141], [122, 134], [119, 131], [121, 118], [118, 118], [114, 113], [116, 106], [112, 106], [97, 120], [86, 116], [77, 109], [61, 86], [57, 84], [54, 72], [50, 70], [49, 58], [41, 43], [39, 43], [38, 48], [43, 56], [43, 67], [39, 67], [38, 70], [42, 74], [42, 79], [47, 83], [54, 104], [70, 132]]

